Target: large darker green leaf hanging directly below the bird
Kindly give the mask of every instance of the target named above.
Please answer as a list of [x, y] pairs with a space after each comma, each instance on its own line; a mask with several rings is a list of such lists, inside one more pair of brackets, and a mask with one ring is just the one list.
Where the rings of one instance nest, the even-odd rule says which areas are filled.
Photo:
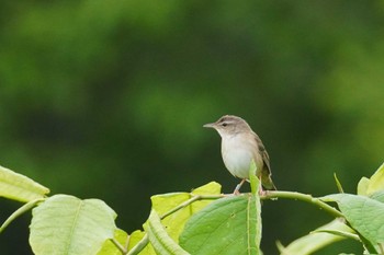
[[212, 202], [187, 222], [180, 245], [193, 255], [260, 254], [256, 204], [250, 194]]

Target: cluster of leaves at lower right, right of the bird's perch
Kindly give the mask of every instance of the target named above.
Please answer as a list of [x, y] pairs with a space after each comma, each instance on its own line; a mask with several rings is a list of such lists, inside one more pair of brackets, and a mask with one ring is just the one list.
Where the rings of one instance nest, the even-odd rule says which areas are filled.
[[287, 247], [278, 243], [282, 254], [312, 254], [343, 239], [361, 242], [364, 254], [384, 254], [384, 164], [371, 176], [362, 177], [358, 194], [345, 194], [336, 178], [340, 194], [319, 198], [337, 202], [340, 218], [292, 242]]

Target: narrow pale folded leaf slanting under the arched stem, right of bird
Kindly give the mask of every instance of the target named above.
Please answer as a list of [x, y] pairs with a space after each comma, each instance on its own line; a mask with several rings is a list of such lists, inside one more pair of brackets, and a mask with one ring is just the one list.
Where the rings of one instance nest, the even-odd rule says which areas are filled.
[[286, 247], [284, 247], [280, 242], [278, 242], [276, 244], [278, 244], [280, 254], [282, 255], [313, 254], [314, 252], [319, 251], [320, 248], [331, 243], [346, 239], [346, 236], [342, 236], [341, 234], [335, 235], [331, 233], [321, 233], [321, 231], [340, 232], [340, 233], [345, 233], [346, 235], [354, 233], [354, 231], [351, 228], [342, 223], [340, 220], [336, 219], [329, 222], [328, 224], [321, 225], [320, 228], [316, 229], [312, 233], [293, 241]]

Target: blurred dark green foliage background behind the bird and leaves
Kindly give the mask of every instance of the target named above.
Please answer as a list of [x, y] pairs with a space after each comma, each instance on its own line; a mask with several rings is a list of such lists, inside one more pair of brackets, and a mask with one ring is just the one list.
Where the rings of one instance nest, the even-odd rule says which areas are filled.
[[[337, 173], [355, 193], [384, 160], [383, 24], [382, 1], [2, 1], [0, 164], [105, 200], [131, 232], [151, 195], [233, 190], [202, 125], [235, 114], [263, 140], [279, 189], [336, 193]], [[1, 199], [0, 220], [19, 206]], [[262, 217], [268, 255], [331, 220], [282, 199]], [[30, 219], [0, 235], [1, 254], [31, 254]]]

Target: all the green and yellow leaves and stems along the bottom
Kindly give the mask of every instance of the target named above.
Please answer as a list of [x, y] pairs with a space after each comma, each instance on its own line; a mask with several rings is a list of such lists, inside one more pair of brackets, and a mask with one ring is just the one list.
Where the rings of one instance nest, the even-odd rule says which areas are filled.
[[[132, 234], [115, 224], [116, 213], [99, 199], [69, 195], [47, 197], [49, 189], [0, 166], [0, 195], [25, 202], [1, 225], [31, 210], [30, 244], [45, 254], [262, 254], [260, 199], [292, 198], [308, 201], [337, 217], [332, 222], [292, 242], [278, 243], [281, 254], [310, 254], [330, 243], [351, 237], [365, 254], [384, 253], [384, 164], [371, 178], [363, 177], [358, 195], [314, 198], [292, 192], [258, 193], [260, 182], [250, 167], [251, 193], [221, 194], [212, 182], [191, 193], [151, 197], [153, 208], [144, 230]], [[339, 210], [326, 202], [337, 202]]]

